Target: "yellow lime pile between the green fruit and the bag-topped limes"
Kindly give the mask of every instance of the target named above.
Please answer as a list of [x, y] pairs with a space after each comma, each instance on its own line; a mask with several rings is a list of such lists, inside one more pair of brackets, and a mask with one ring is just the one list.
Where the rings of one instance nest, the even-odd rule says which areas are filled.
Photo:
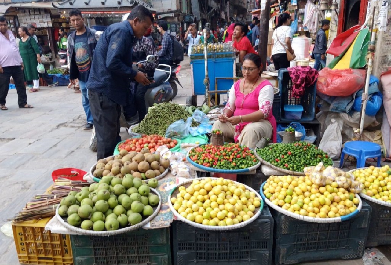
[[261, 199], [230, 179], [194, 179], [171, 197], [174, 209], [189, 221], [206, 226], [231, 226], [254, 216]]

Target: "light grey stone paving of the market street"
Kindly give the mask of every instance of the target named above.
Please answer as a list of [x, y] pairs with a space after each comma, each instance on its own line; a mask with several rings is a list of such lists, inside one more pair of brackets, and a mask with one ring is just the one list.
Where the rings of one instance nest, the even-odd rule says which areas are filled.
[[[185, 89], [179, 89], [175, 100], [183, 104], [186, 96], [191, 95], [190, 67], [187, 57], [185, 60], [179, 74]], [[9, 110], [0, 111], [0, 226], [33, 195], [50, 186], [54, 169], [74, 167], [88, 171], [96, 161], [96, 153], [88, 149], [90, 132], [83, 131], [81, 94], [66, 87], [43, 87], [27, 96], [34, 109], [18, 109], [16, 90], [10, 90]], [[127, 136], [124, 129], [121, 136]], [[0, 242], [0, 265], [18, 264], [13, 238], [0, 233]], [[387, 259], [383, 261], [391, 264]], [[362, 261], [317, 264], [361, 265]]]

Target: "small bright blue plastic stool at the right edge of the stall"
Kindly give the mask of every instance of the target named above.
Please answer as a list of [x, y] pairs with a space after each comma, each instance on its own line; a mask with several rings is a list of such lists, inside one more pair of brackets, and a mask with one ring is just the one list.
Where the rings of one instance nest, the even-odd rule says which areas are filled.
[[380, 159], [382, 158], [382, 151], [380, 145], [366, 141], [350, 141], [345, 143], [341, 153], [341, 161], [339, 167], [343, 166], [345, 154], [357, 158], [357, 168], [365, 167], [367, 158], [377, 158], [377, 166], [380, 167]]

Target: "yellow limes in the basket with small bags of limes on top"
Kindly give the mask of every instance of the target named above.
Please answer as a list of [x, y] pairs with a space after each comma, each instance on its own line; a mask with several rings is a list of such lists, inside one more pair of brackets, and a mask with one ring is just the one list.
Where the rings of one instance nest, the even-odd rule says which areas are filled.
[[337, 182], [317, 185], [309, 176], [271, 176], [264, 184], [263, 193], [282, 209], [317, 218], [348, 215], [360, 202], [354, 193], [339, 187]]

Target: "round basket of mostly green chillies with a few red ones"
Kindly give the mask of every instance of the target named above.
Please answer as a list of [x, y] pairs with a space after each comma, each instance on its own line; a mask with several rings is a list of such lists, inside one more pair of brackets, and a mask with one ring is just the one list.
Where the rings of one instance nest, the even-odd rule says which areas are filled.
[[305, 167], [316, 166], [323, 162], [325, 167], [332, 166], [328, 154], [311, 143], [298, 141], [294, 143], [274, 143], [262, 149], [256, 149], [260, 161], [277, 170], [303, 172]]

